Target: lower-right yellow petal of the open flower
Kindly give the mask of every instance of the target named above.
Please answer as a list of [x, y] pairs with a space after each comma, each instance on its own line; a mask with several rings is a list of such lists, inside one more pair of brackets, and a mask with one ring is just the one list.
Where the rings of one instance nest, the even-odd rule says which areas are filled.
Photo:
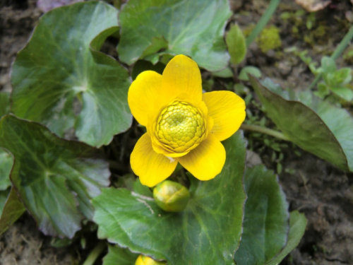
[[177, 159], [194, 177], [200, 180], [213, 179], [225, 165], [225, 148], [220, 140], [209, 134], [197, 148]]

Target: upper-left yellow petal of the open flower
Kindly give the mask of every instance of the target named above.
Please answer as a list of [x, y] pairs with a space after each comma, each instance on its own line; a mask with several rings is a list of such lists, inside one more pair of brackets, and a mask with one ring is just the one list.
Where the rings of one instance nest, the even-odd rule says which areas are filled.
[[128, 88], [128, 106], [133, 117], [143, 126], [155, 116], [165, 103], [161, 93], [162, 76], [155, 71], [143, 71]]

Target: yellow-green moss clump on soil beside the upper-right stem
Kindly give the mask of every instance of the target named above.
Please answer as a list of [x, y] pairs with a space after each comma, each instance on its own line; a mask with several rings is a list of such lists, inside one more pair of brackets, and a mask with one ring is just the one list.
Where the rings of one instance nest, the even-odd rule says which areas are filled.
[[277, 49], [282, 47], [280, 29], [274, 25], [271, 25], [268, 28], [264, 28], [256, 42], [262, 52], [268, 52], [270, 49]]

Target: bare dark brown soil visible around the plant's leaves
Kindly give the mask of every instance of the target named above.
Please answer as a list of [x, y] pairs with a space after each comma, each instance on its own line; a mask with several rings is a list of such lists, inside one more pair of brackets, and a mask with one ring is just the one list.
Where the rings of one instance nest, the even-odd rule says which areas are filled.
[[[268, 1], [232, 1], [232, 21], [241, 28], [251, 29], [265, 11]], [[299, 57], [285, 52], [289, 47], [300, 51], [307, 49], [314, 61], [333, 52], [347, 33], [349, 0], [334, 2], [330, 7], [315, 13], [309, 30], [308, 13], [281, 18], [284, 12], [300, 9], [294, 1], [283, 0], [269, 25], [280, 30], [281, 47], [261, 51], [256, 42], [251, 45], [244, 65], [257, 66], [264, 76], [269, 76], [283, 87], [301, 89], [313, 81], [313, 74]], [[3, 0], [0, 4], [0, 90], [11, 91], [10, 71], [16, 53], [25, 46], [32, 29], [42, 12], [35, 0]], [[299, 31], [296, 31], [295, 28]], [[310, 28], [310, 27], [309, 27]], [[350, 47], [352, 49], [352, 47]], [[339, 66], [349, 65], [349, 59], [337, 60]], [[243, 66], [244, 66], [243, 65]], [[251, 137], [250, 134], [246, 136]], [[273, 170], [277, 164], [271, 159], [270, 148], [254, 145], [265, 165]], [[297, 149], [295, 149], [298, 151]], [[306, 232], [297, 249], [282, 264], [353, 264], [353, 175], [337, 170], [315, 156], [301, 151], [295, 155], [292, 146], [281, 153], [282, 173], [279, 176], [287, 195], [290, 211], [299, 210], [308, 219]], [[290, 169], [290, 170], [289, 170]], [[290, 173], [289, 173], [290, 172]], [[0, 264], [77, 264], [87, 253], [80, 245], [54, 248], [50, 238], [37, 230], [32, 218], [25, 214], [4, 235], [0, 236]]]

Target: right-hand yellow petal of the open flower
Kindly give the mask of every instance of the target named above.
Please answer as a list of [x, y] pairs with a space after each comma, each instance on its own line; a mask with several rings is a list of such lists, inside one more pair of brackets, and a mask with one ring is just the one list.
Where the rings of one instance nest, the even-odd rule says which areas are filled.
[[245, 119], [245, 102], [230, 91], [213, 91], [203, 94], [208, 115], [213, 118], [212, 134], [223, 141], [232, 136]]

